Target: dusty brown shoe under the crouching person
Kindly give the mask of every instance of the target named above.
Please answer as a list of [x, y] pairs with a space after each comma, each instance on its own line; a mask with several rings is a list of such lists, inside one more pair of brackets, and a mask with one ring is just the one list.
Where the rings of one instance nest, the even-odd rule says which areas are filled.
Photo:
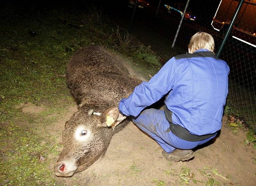
[[185, 160], [190, 160], [191, 158], [194, 157], [194, 152], [192, 150], [180, 150], [180, 149], [175, 149], [171, 153], [166, 153], [164, 150], [162, 152], [164, 155], [164, 158], [168, 161], [171, 162], [177, 162], [177, 161], [185, 161]]

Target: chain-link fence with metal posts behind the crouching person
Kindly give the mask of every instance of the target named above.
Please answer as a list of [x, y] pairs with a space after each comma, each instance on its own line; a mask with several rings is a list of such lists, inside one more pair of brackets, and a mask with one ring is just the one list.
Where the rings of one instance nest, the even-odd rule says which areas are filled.
[[217, 57], [230, 67], [229, 114], [256, 131], [256, 0], [128, 0], [108, 5], [111, 20], [165, 61], [188, 52], [196, 32], [212, 34]]

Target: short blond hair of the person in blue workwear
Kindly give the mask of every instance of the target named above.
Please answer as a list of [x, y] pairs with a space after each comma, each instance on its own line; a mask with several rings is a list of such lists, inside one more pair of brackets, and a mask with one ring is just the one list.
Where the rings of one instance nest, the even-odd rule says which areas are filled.
[[212, 35], [206, 32], [197, 32], [190, 39], [188, 44], [189, 53], [194, 53], [196, 50], [205, 48], [213, 52], [214, 50], [214, 40]]

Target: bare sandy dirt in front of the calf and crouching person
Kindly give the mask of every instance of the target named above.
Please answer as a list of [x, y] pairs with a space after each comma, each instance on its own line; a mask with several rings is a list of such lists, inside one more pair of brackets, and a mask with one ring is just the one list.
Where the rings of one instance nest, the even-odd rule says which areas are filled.
[[[76, 106], [67, 108], [66, 115], [49, 128], [58, 141], [75, 111]], [[234, 133], [227, 121], [224, 116], [218, 137], [194, 149], [195, 158], [190, 161], [168, 162], [161, 147], [130, 122], [112, 137], [99, 163], [67, 178], [53, 173], [57, 156], [49, 168], [58, 185], [255, 185], [255, 150], [244, 143], [244, 130]]]

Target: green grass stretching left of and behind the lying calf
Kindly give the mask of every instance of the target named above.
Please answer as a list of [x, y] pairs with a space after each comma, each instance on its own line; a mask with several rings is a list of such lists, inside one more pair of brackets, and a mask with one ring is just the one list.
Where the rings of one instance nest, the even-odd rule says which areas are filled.
[[[70, 57], [79, 48], [103, 45], [152, 72], [159, 68], [159, 58], [149, 47], [133, 46], [127, 33], [113, 29], [116, 26], [93, 6], [30, 5], [26, 13], [23, 8], [8, 3], [0, 8], [0, 182], [54, 185], [49, 164], [61, 145], [48, 129], [74, 105], [65, 81]], [[26, 102], [44, 110], [22, 113], [17, 106]], [[135, 163], [130, 170], [135, 176], [142, 172]]]

